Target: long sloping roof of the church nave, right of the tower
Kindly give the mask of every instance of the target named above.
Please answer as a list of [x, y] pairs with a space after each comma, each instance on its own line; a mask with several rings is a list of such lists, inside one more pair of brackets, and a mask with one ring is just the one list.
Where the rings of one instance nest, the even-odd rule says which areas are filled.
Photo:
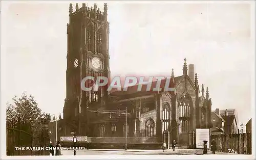
[[[181, 77], [182, 76], [174, 77], [174, 81], [177, 82]], [[165, 82], [166, 82], [166, 79], [162, 79], [161, 84], [160, 84], [160, 88], [162, 90], [165, 87]], [[153, 81], [150, 91], [146, 90], [147, 85], [142, 85], [141, 91], [138, 91], [138, 85], [128, 87], [127, 91], [123, 91], [123, 88], [122, 88], [122, 91], [117, 91], [117, 89], [115, 88], [115, 89], [112, 90], [112, 93], [110, 93], [110, 96], [121, 96], [121, 95], [127, 95], [127, 94], [135, 94], [135, 93], [138, 93], [138, 92], [148, 92], [148, 93], [152, 92], [152, 93], [154, 93], [154, 92], [157, 92], [157, 91], [153, 91], [153, 88], [156, 87], [156, 84], [157, 84], [157, 81]], [[171, 84], [172, 84], [172, 82], [170, 81], [169, 88], [171, 87]]]

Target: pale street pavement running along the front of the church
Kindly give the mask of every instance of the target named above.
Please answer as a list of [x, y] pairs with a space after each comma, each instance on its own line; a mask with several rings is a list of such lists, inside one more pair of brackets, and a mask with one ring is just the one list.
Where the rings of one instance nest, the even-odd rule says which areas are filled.
[[[62, 155], [74, 155], [73, 150], [61, 150]], [[212, 154], [210, 150], [207, 151], [208, 154]], [[172, 149], [163, 150], [137, 150], [137, 149], [90, 149], [90, 150], [76, 150], [76, 155], [195, 155], [202, 154], [203, 149]], [[216, 154], [234, 154], [234, 153], [224, 153], [216, 152]]]

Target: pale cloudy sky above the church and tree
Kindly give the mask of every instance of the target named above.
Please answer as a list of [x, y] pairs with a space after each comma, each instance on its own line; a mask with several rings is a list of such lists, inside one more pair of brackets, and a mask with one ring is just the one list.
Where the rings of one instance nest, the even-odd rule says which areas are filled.
[[[1, 1], [2, 111], [26, 91], [43, 112], [62, 114], [69, 3]], [[96, 3], [103, 11], [104, 2]], [[253, 2], [107, 3], [112, 76], [170, 75], [172, 68], [180, 76], [186, 58], [200, 87], [209, 87], [212, 110], [235, 108], [243, 123], [254, 117]]]

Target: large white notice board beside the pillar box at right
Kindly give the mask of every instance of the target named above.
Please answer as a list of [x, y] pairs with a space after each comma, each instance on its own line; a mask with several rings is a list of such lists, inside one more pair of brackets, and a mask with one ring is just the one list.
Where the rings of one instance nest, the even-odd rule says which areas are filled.
[[210, 148], [210, 129], [196, 129], [196, 147], [203, 148], [204, 141], [208, 141], [207, 148]]

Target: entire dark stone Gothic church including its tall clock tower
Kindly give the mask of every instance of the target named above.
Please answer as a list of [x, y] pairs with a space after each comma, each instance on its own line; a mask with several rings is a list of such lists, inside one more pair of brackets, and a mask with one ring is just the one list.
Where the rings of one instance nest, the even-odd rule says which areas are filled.
[[[79, 9], [76, 4], [73, 12], [70, 4], [70, 22], [67, 24], [67, 95], [60, 120], [61, 136], [76, 135], [90, 137], [91, 143], [124, 143], [127, 126], [127, 144], [167, 144], [176, 139], [178, 143], [188, 145], [189, 131], [196, 128], [210, 128], [211, 98], [208, 87], [202, 85], [199, 94], [197, 73], [194, 65], [186, 64], [184, 59], [183, 74], [163, 79], [175, 91], [137, 91], [138, 86], [127, 91], [108, 92], [106, 87], [99, 90], [81, 92], [80, 81], [85, 76], [106, 76], [110, 78], [109, 67], [109, 22], [107, 5], [104, 11], [89, 8], [83, 4]], [[195, 76], [194, 76], [195, 75]], [[86, 84], [90, 85], [90, 84]], [[156, 82], [152, 84], [152, 88]], [[127, 125], [125, 115], [127, 109]], [[119, 114], [120, 113], [120, 114]], [[169, 132], [169, 138], [163, 139], [163, 131]], [[195, 139], [196, 140], [196, 139]], [[191, 142], [194, 143], [195, 142]], [[193, 144], [189, 144], [193, 145]]]

